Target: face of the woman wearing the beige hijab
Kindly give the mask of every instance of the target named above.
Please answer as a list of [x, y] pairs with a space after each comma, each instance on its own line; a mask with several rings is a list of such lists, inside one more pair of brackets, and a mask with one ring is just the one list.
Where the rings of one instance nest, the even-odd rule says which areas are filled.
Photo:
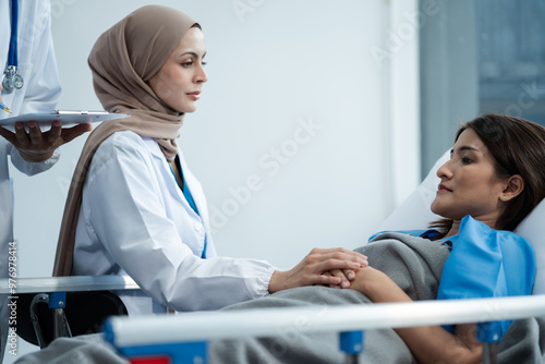
[[172, 109], [195, 111], [203, 84], [208, 81], [203, 68], [205, 54], [203, 32], [197, 27], [189, 29], [159, 72], [149, 78], [149, 86]]

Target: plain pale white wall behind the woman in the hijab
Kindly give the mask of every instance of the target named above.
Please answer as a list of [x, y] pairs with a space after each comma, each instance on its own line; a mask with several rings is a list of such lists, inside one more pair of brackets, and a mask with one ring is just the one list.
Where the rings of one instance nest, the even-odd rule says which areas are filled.
[[[88, 52], [150, 1], [51, 2], [59, 108], [101, 109]], [[154, 3], [187, 12], [206, 36], [209, 82], [179, 144], [207, 193], [220, 254], [290, 268], [313, 246], [359, 246], [416, 185], [417, 37], [404, 31], [415, 1]], [[50, 275], [83, 143], [63, 146], [47, 173], [12, 173], [20, 277]], [[251, 177], [262, 183], [244, 194]]]

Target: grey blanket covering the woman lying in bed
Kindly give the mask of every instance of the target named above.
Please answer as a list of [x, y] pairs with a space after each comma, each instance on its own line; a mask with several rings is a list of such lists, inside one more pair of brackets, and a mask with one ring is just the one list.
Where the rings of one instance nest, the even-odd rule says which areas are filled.
[[[434, 300], [437, 296], [443, 265], [449, 254], [439, 242], [387, 233], [358, 251], [367, 255], [372, 266], [385, 271], [413, 300]], [[304, 287], [225, 310], [346, 304], [371, 302], [353, 290]], [[99, 336], [59, 339], [46, 350], [26, 355], [17, 363], [126, 363], [100, 340]], [[361, 363], [416, 363], [391, 329], [366, 331], [364, 347]], [[498, 362], [543, 363], [544, 350], [545, 317], [516, 320], [498, 345]], [[213, 341], [208, 353], [211, 364], [344, 363], [344, 356], [339, 351], [338, 333], [303, 333], [296, 327], [275, 338]]]

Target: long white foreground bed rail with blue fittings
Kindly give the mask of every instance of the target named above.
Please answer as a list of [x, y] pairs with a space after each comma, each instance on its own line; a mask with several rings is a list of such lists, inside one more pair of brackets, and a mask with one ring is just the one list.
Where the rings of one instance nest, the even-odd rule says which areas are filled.
[[[347, 362], [356, 363], [364, 330], [480, 323], [480, 330], [485, 331], [481, 341], [491, 354], [483, 355], [483, 363], [494, 363], [495, 352], [488, 349], [500, 338], [491, 330], [493, 324], [535, 316], [545, 316], [545, 295], [111, 317], [105, 338], [129, 357], [167, 353], [173, 356], [172, 363], [204, 363], [209, 340], [334, 331], [340, 333]], [[175, 357], [180, 353], [183, 357]]]

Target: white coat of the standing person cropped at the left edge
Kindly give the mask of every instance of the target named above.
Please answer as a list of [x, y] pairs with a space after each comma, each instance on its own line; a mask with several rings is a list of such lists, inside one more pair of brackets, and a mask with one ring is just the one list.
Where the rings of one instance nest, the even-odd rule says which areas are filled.
[[[12, 114], [0, 111], [0, 119], [21, 113], [51, 111], [61, 93], [53, 45], [50, 32], [51, 7], [48, 0], [25, 0], [19, 2], [17, 52], [19, 73], [24, 86], [11, 94], [2, 92], [2, 102]], [[0, 72], [8, 63], [11, 35], [11, 1], [0, 1]], [[8, 243], [13, 240], [13, 195], [8, 169], [8, 156], [13, 165], [28, 175], [51, 168], [59, 159], [59, 153], [45, 162], [27, 162], [3, 137], [0, 137], [0, 278], [8, 277]], [[8, 312], [5, 296], [0, 298], [0, 361], [3, 357], [8, 336]]]

